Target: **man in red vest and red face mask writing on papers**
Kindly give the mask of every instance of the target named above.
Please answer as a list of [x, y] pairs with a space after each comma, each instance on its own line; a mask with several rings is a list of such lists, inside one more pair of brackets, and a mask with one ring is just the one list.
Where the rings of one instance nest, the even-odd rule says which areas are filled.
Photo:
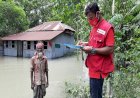
[[88, 55], [85, 61], [89, 69], [91, 98], [102, 98], [104, 78], [114, 71], [114, 28], [102, 18], [97, 3], [89, 4], [85, 15], [92, 29], [88, 42], [80, 42]]

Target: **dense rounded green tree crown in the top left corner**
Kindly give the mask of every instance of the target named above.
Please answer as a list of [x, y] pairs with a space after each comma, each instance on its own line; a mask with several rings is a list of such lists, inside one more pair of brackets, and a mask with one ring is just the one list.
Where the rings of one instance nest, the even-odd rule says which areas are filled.
[[24, 10], [13, 2], [0, 2], [0, 36], [21, 32], [28, 28]]

